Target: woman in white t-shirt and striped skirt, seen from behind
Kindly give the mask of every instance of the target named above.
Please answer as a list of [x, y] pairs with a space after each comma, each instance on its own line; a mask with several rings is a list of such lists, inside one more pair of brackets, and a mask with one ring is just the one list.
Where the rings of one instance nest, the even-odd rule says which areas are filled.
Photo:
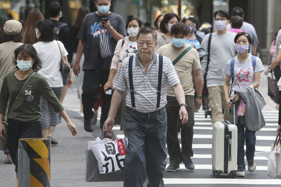
[[[57, 98], [60, 100], [63, 92], [63, 79], [60, 72], [61, 53], [69, 65], [68, 52], [64, 44], [54, 39], [55, 30], [54, 25], [50, 20], [40, 20], [36, 22], [35, 34], [39, 38], [39, 42], [33, 46], [37, 51], [39, 58], [42, 61], [42, 68], [38, 74], [44, 76]], [[73, 81], [71, 73], [69, 72], [67, 78], [67, 85], [70, 87]], [[51, 144], [58, 144], [58, 141], [53, 137], [56, 125], [62, 122], [59, 113], [50, 106], [45, 98], [41, 98], [41, 128], [42, 137], [50, 138]]]

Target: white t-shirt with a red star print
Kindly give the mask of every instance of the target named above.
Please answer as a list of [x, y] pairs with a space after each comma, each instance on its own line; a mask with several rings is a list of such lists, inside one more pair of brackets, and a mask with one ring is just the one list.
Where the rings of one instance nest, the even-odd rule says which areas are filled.
[[[249, 54], [248, 58], [243, 62], [239, 61], [237, 56], [235, 56], [234, 59], [235, 59], [234, 72], [233, 72], [234, 83], [232, 84], [231, 97], [234, 96], [234, 90], [249, 86], [254, 83], [254, 73], [264, 71], [263, 64], [260, 58], [257, 56], [256, 56], [256, 65], [254, 69], [252, 65], [251, 54]], [[231, 76], [230, 60], [228, 60], [222, 72]]]

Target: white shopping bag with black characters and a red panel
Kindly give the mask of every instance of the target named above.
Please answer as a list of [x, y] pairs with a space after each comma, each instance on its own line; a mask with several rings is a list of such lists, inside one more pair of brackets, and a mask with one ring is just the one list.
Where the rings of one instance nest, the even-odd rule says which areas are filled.
[[91, 146], [91, 150], [98, 160], [100, 173], [123, 169], [126, 156], [125, 138], [111, 142], [105, 138], [103, 142], [105, 143]]

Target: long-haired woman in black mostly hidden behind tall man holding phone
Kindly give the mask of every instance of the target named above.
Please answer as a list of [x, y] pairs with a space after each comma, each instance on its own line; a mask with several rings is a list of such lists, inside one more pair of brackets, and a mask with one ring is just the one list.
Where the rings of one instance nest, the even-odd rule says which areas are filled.
[[[82, 6], [79, 8], [76, 19], [75, 19], [75, 23], [74, 25], [72, 25], [70, 27], [70, 50], [69, 50], [69, 55], [70, 55], [70, 59], [72, 59], [72, 62], [75, 62], [76, 59], [76, 51], [77, 51], [77, 47], [78, 47], [78, 43], [79, 43], [79, 39], [77, 39], [77, 35], [80, 29], [80, 26], [83, 22], [84, 17], [90, 13], [90, 10], [88, 7]], [[72, 57], [71, 57], [72, 56]], [[72, 62], [70, 63], [72, 65]], [[84, 53], [81, 56], [81, 60], [80, 60], [80, 67], [83, 67], [83, 62], [84, 62]], [[77, 85], [77, 94], [78, 94], [78, 98], [80, 99], [80, 117], [84, 117], [83, 115], [83, 104], [82, 104], [82, 85], [83, 85], [83, 78], [84, 78], [84, 72], [80, 71], [80, 73], [78, 74], [78, 76], [75, 76], [76, 78], [76, 85]], [[95, 112], [96, 114], [96, 112]]]

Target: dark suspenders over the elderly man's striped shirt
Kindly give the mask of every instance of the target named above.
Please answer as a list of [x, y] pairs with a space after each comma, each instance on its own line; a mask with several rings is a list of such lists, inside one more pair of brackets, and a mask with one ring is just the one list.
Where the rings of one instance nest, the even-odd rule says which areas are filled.
[[[134, 55], [129, 57], [129, 83], [130, 83], [130, 93], [131, 93], [131, 103], [135, 110], [135, 95], [134, 95], [134, 85], [133, 85], [133, 58]], [[159, 55], [159, 69], [158, 69], [158, 87], [157, 87], [157, 105], [156, 110], [160, 107], [160, 96], [161, 96], [161, 84], [162, 84], [162, 73], [163, 73], [163, 56]]]

